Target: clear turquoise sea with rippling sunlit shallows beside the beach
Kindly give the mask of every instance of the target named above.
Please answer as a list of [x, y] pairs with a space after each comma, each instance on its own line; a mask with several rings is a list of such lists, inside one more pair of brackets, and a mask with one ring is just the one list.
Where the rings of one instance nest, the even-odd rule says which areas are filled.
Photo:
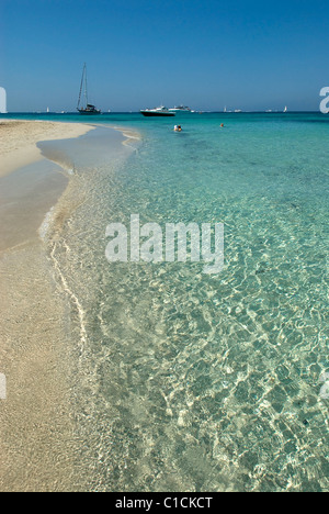
[[[41, 144], [83, 195], [48, 252], [70, 302], [90, 490], [329, 491], [329, 118], [39, 119], [106, 125]], [[140, 139], [122, 145], [112, 125]], [[106, 226], [131, 214], [224, 223], [224, 270], [110, 264]]]

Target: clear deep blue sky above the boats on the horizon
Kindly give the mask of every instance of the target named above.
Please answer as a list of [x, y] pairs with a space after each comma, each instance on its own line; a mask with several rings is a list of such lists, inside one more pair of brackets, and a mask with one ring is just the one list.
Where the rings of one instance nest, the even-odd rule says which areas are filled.
[[328, 0], [0, 0], [8, 110], [318, 110]]

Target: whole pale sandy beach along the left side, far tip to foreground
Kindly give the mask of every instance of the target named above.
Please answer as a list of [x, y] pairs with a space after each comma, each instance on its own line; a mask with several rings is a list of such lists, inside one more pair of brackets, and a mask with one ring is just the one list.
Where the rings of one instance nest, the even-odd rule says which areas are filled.
[[0, 401], [0, 491], [71, 491], [83, 483], [80, 477], [75, 485], [68, 304], [37, 232], [69, 176], [44, 160], [35, 144], [91, 128], [0, 123], [0, 372], [7, 377], [7, 400]]

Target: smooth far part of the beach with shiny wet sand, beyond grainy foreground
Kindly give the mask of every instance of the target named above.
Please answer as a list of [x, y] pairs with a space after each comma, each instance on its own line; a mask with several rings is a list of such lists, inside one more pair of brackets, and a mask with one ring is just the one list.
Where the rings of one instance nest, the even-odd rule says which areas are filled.
[[0, 253], [37, 237], [68, 176], [45, 159], [37, 143], [71, 139], [94, 127], [81, 123], [0, 121]]

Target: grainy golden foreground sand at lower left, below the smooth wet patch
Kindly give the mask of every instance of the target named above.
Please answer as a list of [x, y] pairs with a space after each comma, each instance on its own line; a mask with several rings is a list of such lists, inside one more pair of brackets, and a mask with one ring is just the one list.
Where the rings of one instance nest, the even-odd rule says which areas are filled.
[[0, 490], [65, 491], [73, 483], [68, 345], [59, 297], [35, 243], [0, 261]]

